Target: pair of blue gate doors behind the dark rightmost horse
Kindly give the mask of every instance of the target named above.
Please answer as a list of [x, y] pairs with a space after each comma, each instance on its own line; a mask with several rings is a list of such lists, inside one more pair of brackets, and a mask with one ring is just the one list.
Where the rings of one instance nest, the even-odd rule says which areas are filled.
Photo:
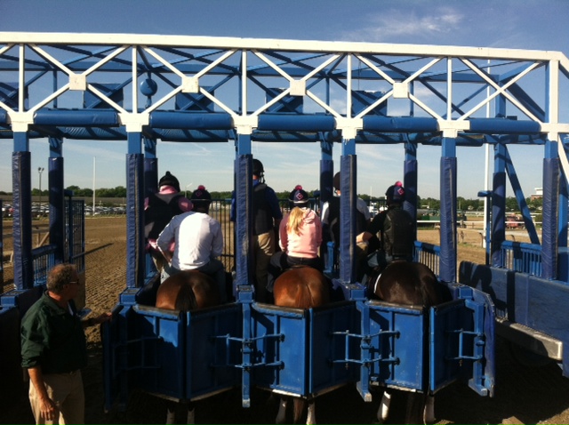
[[[369, 334], [358, 335], [360, 380], [369, 373], [371, 385], [435, 393], [461, 379], [479, 395], [493, 396], [493, 303], [468, 286], [450, 287], [454, 301], [429, 310], [366, 303]], [[366, 382], [359, 384], [365, 396]]]

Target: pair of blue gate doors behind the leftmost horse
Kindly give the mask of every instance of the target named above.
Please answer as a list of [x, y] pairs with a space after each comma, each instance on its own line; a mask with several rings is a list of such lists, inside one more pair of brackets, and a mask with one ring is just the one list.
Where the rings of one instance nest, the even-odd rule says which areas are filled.
[[103, 326], [105, 397], [125, 408], [133, 388], [190, 400], [230, 389], [239, 373], [228, 361], [239, 347], [241, 308], [231, 304], [190, 313], [118, 306]]

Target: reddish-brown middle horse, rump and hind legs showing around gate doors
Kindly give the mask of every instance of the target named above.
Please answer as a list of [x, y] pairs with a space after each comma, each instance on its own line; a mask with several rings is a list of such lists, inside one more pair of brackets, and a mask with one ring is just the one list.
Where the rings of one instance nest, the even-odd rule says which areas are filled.
[[[273, 288], [275, 305], [296, 309], [311, 309], [330, 302], [330, 283], [317, 269], [308, 266], [294, 266], [284, 270], [275, 280]], [[290, 397], [281, 398], [276, 414], [276, 425], [284, 424], [286, 406]], [[293, 423], [298, 424], [304, 413], [307, 400], [293, 397]], [[307, 425], [316, 425], [314, 399], [309, 400]]]

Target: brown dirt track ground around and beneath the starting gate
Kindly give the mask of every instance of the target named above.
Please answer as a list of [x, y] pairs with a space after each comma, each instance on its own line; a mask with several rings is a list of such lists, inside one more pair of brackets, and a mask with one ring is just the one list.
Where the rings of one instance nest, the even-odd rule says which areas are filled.
[[[459, 259], [484, 261], [485, 253], [476, 230], [459, 238]], [[437, 230], [421, 230], [420, 239], [437, 243]], [[100, 249], [97, 249], [100, 248]], [[90, 219], [86, 225], [87, 305], [94, 313], [111, 309], [125, 287], [126, 237], [124, 219]], [[5, 279], [10, 278], [6, 268]], [[90, 363], [84, 370], [87, 425], [163, 424], [165, 406], [156, 397], [134, 394], [126, 412], [103, 411], [101, 345], [97, 329], [88, 331]], [[455, 383], [437, 393], [437, 425], [569, 424], [569, 379], [557, 365], [532, 368], [517, 364], [505, 343], [497, 347], [496, 395], [479, 397], [466, 384]], [[317, 399], [321, 425], [369, 425], [379, 397], [365, 404], [352, 387], [338, 389]], [[265, 393], [254, 393], [252, 407], [241, 408], [238, 390], [200, 402], [196, 420], [201, 424], [274, 423], [276, 402]], [[31, 425], [26, 394], [18, 403], [0, 412], [0, 425]], [[185, 423], [181, 418], [178, 423]]]

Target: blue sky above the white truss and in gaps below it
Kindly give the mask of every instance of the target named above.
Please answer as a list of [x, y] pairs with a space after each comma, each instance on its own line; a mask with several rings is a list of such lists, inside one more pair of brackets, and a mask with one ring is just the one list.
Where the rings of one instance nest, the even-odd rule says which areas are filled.
[[[397, 44], [437, 44], [561, 51], [569, 56], [566, 0], [2, 0], [0, 31], [96, 32], [188, 36], [233, 36]], [[0, 140], [0, 190], [12, 190], [12, 140]], [[158, 145], [159, 173], [171, 171], [182, 189], [204, 184], [230, 190], [232, 143]], [[48, 146], [30, 141], [32, 170], [46, 167]], [[340, 154], [335, 148], [335, 156]], [[124, 142], [64, 144], [65, 185], [96, 188], [125, 185]], [[317, 146], [283, 147], [254, 143], [268, 184], [290, 190], [316, 189]], [[423, 153], [424, 152], [424, 153]], [[511, 148], [525, 196], [542, 186], [542, 148]], [[358, 193], [380, 196], [403, 178], [401, 147], [358, 148]], [[419, 152], [421, 197], [438, 195], [440, 148]], [[484, 188], [483, 148], [459, 148], [458, 195], [476, 198]], [[527, 172], [530, 171], [530, 172]], [[46, 175], [44, 174], [44, 179]], [[32, 187], [39, 186], [36, 172]], [[45, 188], [46, 180], [43, 182]], [[509, 196], [513, 196], [509, 190]]]

